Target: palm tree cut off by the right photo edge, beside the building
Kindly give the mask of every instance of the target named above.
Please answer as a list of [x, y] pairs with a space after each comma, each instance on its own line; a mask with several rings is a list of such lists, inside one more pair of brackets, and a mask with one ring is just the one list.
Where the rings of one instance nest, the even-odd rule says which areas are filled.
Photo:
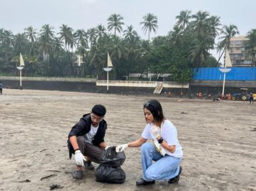
[[251, 60], [256, 66], [256, 29], [253, 29], [247, 33], [247, 42], [245, 42], [245, 52], [251, 56]]

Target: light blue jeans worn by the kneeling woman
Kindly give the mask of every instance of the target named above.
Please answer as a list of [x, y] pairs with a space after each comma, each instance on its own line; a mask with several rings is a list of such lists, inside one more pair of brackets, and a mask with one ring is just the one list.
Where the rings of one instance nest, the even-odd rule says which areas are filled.
[[[179, 173], [180, 158], [161, 155], [152, 142], [142, 144], [142, 178], [146, 181], [169, 180]], [[155, 161], [153, 163], [153, 161]]]

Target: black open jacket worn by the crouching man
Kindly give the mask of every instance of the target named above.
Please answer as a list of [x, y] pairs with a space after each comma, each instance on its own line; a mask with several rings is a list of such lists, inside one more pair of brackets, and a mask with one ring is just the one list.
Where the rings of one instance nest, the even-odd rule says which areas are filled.
[[[99, 146], [101, 142], [104, 142], [104, 137], [107, 129], [107, 124], [104, 119], [100, 121], [99, 128], [97, 133], [95, 134], [92, 143], [95, 146]], [[83, 117], [79, 120], [77, 124], [75, 124], [68, 134], [68, 151], [69, 151], [69, 158], [71, 159], [72, 154], [74, 154], [74, 148], [72, 147], [69, 138], [71, 136], [83, 136], [87, 134], [91, 130], [91, 115], [87, 113], [83, 115]]]

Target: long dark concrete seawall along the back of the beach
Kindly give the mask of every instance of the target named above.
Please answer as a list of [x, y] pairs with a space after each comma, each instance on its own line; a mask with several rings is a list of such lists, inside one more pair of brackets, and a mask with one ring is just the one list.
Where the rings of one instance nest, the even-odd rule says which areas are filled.
[[[18, 80], [1, 80], [3, 88], [19, 88]], [[153, 94], [155, 87], [129, 87], [129, 86], [109, 86], [108, 93], [114, 94], [142, 94], [151, 96], [167, 96], [171, 92], [172, 97], [179, 97], [181, 91], [186, 94], [195, 94], [202, 92], [204, 94], [217, 94], [222, 92], [221, 81], [195, 81], [190, 83], [189, 88], [163, 88], [162, 93]], [[49, 81], [22, 81], [22, 88], [37, 90], [61, 90], [61, 91], [79, 91], [107, 93], [106, 86], [96, 86], [96, 82], [49, 82]], [[256, 92], [256, 82], [226, 82], [225, 92], [241, 92], [240, 88], [249, 88], [249, 92]], [[3, 89], [4, 92], [4, 89]]]

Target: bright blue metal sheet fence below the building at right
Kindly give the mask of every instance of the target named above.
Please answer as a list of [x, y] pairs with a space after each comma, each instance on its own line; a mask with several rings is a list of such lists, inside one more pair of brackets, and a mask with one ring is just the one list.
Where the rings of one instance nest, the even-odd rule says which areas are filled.
[[[193, 69], [194, 80], [223, 80], [219, 67], [197, 67]], [[232, 67], [226, 73], [226, 80], [256, 81], [256, 67]]]

